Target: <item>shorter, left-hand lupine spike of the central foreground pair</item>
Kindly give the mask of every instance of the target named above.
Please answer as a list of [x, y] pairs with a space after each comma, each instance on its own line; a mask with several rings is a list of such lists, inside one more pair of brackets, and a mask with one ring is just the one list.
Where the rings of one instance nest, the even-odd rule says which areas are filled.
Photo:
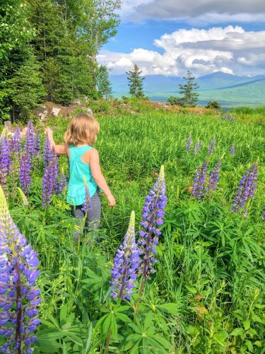
[[134, 231], [135, 215], [131, 212], [129, 227], [124, 236], [124, 242], [117, 250], [112, 268], [111, 297], [119, 299], [130, 299], [134, 294], [137, 270], [139, 268], [140, 257], [139, 248], [135, 241]]

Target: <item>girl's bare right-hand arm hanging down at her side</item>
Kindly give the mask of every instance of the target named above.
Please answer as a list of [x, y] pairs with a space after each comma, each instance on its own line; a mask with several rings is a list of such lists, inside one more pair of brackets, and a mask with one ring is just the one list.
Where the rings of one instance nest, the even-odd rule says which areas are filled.
[[85, 154], [83, 161], [86, 162], [87, 164], [90, 164], [90, 169], [92, 172], [92, 176], [95, 179], [95, 182], [99, 186], [99, 188], [103, 191], [103, 193], [106, 195], [107, 200], [109, 202], [109, 206], [113, 207], [113, 205], [116, 204], [116, 200], [113, 197], [109, 186], [107, 185], [107, 182], [102, 175], [101, 169], [100, 169], [100, 158], [98, 155], [98, 151], [96, 149], [90, 149], [89, 154]]

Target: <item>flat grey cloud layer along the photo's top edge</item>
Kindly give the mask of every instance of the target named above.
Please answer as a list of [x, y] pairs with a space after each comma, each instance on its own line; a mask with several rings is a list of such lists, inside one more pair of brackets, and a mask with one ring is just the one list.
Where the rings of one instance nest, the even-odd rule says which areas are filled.
[[265, 22], [264, 0], [124, 0], [124, 21], [148, 18], [189, 23]]

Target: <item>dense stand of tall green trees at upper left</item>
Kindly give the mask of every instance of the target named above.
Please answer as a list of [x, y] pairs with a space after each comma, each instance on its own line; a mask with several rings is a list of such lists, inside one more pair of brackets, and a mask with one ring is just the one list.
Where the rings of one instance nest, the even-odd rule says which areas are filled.
[[1, 120], [27, 115], [44, 100], [110, 93], [96, 55], [117, 33], [120, 0], [5, 0], [0, 3]]

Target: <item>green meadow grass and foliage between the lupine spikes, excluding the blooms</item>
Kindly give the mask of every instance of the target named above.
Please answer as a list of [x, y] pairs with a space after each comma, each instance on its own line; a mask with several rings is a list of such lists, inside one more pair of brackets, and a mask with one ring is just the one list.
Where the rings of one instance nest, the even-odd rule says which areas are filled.
[[[107, 207], [102, 195], [100, 230], [81, 243], [73, 239], [64, 198], [55, 195], [42, 207], [41, 157], [34, 162], [28, 206], [9, 181], [11, 215], [40, 259], [42, 324], [34, 353], [106, 353], [109, 333], [110, 353], [264, 353], [265, 115], [239, 109], [234, 114], [237, 119], [228, 121], [210, 110], [196, 114], [140, 105], [95, 113], [100, 122], [95, 147], [117, 205]], [[59, 143], [68, 123], [49, 118], [45, 125]], [[40, 122], [35, 125], [42, 129]], [[208, 156], [213, 137], [216, 147]], [[196, 142], [202, 147], [195, 155]], [[218, 190], [196, 200], [191, 193], [196, 169], [209, 159], [209, 172], [219, 158]], [[230, 208], [240, 179], [255, 161], [258, 186], [245, 219]], [[131, 210], [138, 238], [141, 208], [161, 165], [165, 222], [156, 273], [135, 316], [138, 286], [131, 300], [120, 304], [110, 298], [110, 272]], [[65, 156], [59, 166], [67, 173]]]

